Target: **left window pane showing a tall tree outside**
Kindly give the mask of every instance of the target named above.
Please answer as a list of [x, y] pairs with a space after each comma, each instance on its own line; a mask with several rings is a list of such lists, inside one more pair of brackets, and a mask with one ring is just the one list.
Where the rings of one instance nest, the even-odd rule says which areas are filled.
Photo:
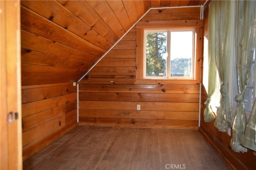
[[167, 32], [146, 33], [146, 76], [166, 76]]

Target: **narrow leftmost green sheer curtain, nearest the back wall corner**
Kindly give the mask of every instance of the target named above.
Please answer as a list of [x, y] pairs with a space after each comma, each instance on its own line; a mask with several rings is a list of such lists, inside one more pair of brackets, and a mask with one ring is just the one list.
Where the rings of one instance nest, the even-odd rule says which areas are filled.
[[[210, 5], [211, 6], [211, 5]], [[209, 30], [208, 30], [208, 98], [204, 103], [206, 108], [204, 109], [204, 121], [210, 122], [214, 120], [215, 115], [212, 111], [211, 101], [212, 96], [216, 90], [216, 61], [215, 61], [215, 9], [209, 8]]]

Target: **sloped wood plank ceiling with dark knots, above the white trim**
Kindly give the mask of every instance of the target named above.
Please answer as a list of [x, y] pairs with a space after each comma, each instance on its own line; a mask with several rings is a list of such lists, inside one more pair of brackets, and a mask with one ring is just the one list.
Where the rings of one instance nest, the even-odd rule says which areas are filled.
[[22, 86], [76, 82], [150, 9], [206, 0], [21, 1]]

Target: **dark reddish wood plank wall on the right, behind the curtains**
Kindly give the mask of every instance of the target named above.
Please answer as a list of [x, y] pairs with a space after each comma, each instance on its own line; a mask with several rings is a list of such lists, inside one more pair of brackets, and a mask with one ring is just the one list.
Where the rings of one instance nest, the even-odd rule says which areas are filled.
[[[204, 12], [204, 36], [208, 37], [208, 9]], [[203, 69], [202, 69], [203, 70]], [[201, 95], [201, 126], [200, 132], [204, 135], [206, 140], [212, 145], [216, 152], [222, 157], [226, 164], [231, 169], [256, 169], [256, 156], [254, 156], [252, 150], [248, 150], [246, 153], [237, 153], [230, 148], [230, 140], [232, 137], [226, 133], [218, 131], [214, 127], [214, 120], [212, 122], [204, 122], [204, 102], [207, 100], [207, 92], [202, 85]]]

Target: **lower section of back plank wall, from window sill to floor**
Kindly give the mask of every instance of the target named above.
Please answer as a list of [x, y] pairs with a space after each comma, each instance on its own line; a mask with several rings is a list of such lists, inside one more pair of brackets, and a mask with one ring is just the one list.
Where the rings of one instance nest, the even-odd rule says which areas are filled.
[[[191, 90], [178, 84], [79, 86], [80, 125], [198, 128], [199, 85], [190, 85]], [[137, 104], [141, 110], [136, 110]]]

